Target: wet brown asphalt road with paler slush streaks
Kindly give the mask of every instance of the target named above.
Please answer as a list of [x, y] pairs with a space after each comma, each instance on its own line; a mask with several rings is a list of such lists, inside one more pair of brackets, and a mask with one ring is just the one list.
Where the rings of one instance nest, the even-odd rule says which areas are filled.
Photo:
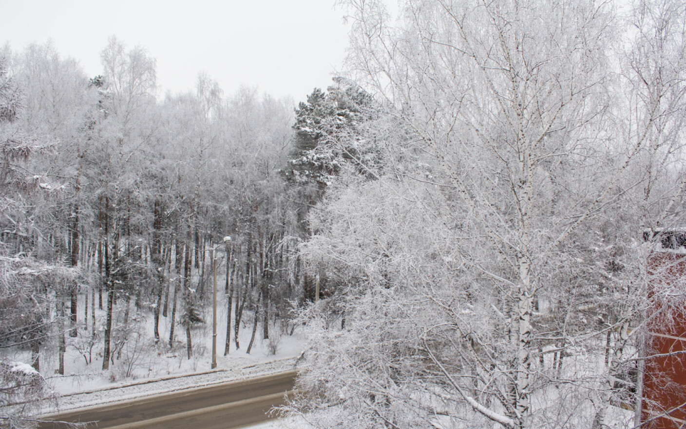
[[[272, 406], [292, 393], [295, 371], [185, 389], [139, 400], [45, 415], [51, 421], [93, 422], [88, 428], [229, 429], [257, 424], [271, 417]], [[39, 428], [67, 428], [43, 423]]]

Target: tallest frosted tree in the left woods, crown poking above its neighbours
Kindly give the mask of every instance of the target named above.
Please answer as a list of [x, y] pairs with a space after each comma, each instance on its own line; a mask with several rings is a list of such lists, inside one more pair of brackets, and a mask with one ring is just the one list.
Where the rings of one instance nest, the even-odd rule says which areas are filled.
[[99, 142], [102, 150], [96, 161], [102, 167], [102, 174], [97, 177], [97, 194], [107, 291], [103, 369], [108, 369], [115, 294], [123, 294], [126, 321], [130, 290], [122, 290], [122, 286], [130, 288], [129, 275], [137, 275], [129, 270], [137, 269], [130, 262], [140, 254], [140, 249], [132, 247], [130, 236], [141, 234], [143, 228], [147, 230], [147, 225], [135, 223], [140, 218], [132, 217], [132, 212], [135, 215], [143, 205], [140, 171], [149, 154], [141, 148], [152, 148], [154, 142], [155, 123], [151, 119], [155, 113], [156, 71], [155, 60], [145, 49], [127, 50], [115, 37], [110, 37], [101, 60], [108, 95], [104, 106], [111, 113], [110, 121], [102, 124]]

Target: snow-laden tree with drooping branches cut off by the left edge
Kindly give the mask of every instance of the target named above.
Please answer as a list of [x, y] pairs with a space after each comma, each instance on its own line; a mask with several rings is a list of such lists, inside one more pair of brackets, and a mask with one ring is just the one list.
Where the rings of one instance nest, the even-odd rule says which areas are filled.
[[[75, 282], [75, 271], [36, 260], [35, 235], [26, 234], [27, 225], [18, 221], [31, 195], [49, 190], [25, 177], [31, 156], [45, 151], [45, 145], [27, 136], [16, 121], [23, 109], [22, 94], [9, 73], [8, 59], [0, 57], [0, 348], [31, 350], [32, 363], [0, 358], [0, 425], [7, 428], [34, 428], [40, 401], [53, 397], [38, 373], [40, 344], [47, 342], [54, 320], [49, 298], [60, 285]], [[49, 291], [53, 288], [54, 291]]]

